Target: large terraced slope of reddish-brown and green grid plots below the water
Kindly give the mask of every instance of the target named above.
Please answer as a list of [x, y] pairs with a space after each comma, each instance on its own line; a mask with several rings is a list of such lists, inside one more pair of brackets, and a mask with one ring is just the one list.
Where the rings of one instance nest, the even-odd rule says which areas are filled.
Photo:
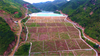
[[96, 56], [65, 16], [31, 17], [26, 25], [31, 56]]

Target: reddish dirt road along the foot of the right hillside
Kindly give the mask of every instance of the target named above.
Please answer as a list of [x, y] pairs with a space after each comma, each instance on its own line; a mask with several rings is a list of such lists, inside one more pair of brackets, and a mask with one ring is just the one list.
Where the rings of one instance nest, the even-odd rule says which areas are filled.
[[[64, 14], [62, 11], [59, 11], [59, 12], [60, 12], [61, 14], [63, 14], [63, 15], [66, 15], [66, 14]], [[89, 37], [87, 34], [85, 34], [85, 32], [84, 32], [85, 28], [82, 27], [82, 26], [80, 26], [78, 23], [73, 22], [73, 21], [68, 17], [68, 15], [67, 15], [66, 21], [68, 21], [69, 23], [75, 25], [75, 27], [78, 27], [78, 28], [82, 29], [82, 33], [83, 33], [83, 35], [84, 35], [84, 37], [85, 37], [86, 39], [90, 40], [91, 42], [93, 42], [93, 43], [95, 43], [95, 44], [100, 45], [100, 42], [98, 42], [97, 40], [95, 40], [95, 39]]]

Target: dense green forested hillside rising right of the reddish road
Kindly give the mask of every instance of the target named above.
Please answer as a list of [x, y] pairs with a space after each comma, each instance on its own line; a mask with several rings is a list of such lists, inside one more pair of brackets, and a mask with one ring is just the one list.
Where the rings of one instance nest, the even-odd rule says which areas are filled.
[[[67, 5], [63, 5], [61, 9], [63, 13], [68, 14], [71, 20], [85, 27], [85, 33], [87, 35], [100, 41], [100, 0], [72, 1], [68, 2]], [[66, 7], [64, 8], [64, 6]], [[75, 9], [72, 9], [72, 7]]]

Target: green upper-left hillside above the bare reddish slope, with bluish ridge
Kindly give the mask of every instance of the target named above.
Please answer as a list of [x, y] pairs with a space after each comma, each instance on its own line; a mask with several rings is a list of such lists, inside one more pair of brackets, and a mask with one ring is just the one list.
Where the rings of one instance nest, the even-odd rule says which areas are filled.
[[[28, 4], [26, 6], [26, 4]], [[36, 9], [33, 5], [24, 2], [23, 0], [0, 0], [0, 10], [3, 10], [9, 14], [12, 14], [15, 18], [20, 18], [25, 15], [25, 7], [31, 12], [38, 12], [40, 10]], [[16, 13], [17, 12], [17, 13]]]

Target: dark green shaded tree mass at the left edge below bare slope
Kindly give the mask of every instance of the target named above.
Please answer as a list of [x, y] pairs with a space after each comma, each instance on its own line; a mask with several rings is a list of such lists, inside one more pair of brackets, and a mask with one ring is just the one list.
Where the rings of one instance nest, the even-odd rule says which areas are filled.
[[15, 34], [11, 31], [5, 20], [0, 17], [0, 55], [3, 55], [9, 44], [14, 40]]

